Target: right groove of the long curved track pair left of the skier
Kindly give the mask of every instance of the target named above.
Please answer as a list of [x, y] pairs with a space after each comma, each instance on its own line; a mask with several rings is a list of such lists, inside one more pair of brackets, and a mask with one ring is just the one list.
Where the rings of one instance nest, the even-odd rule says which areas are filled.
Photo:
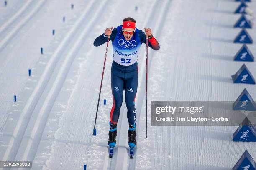
[[[95, 2], [97, 2], [97, 1], [95, 1]], [[44, 127], [46, 125], [46, 122], [47, 122], [47, 119], [48, 119], [48, 116], [50, 113], [50, 110], [54, 104], [54, 101], [56, 100], [56, 97], [58, 96], [59, 91], [61, 90], [64, 80], [66, 79], [67, 73], [69, 71], [69, 67], [72, 64], [72, 62], [74, 61], [74, 58], [77, 54], [76, 50], [83, 44], [85, 35], [88, 33], [88, 31], [90, 30], [90, 27], [92, 27], [93, 23], [96, 21], [96, 19], [95, 19], [96, 16], [98, 16], [100, 13], [102, 13], [102, 7], [104, 7], [106, 3], [107, 3], [107, 1], [102, 2], [100, 6], [97, 6], [97, 10], [94, 11], [95, 13], [94, 13], [93, 17], [90, 18], [89, 22], [87, 23], [87, 28], [85, 28], [79, 34], [75, 44], [72, 45], [69, 53], [67, 54], [67, 57], [64, 59], [64, 63], [62, 63], [62, 65], [61, 65], [61, 69], [58, 72], [56, 80], [54, 81], [54, 84], [53, 84], [50, 92], [48, 93], [48, 95], [44, 101], [44, 104], [41, 107], [41, 110], [40, 110], [39, 115], [36, 120], [36, 126], [33, 128], [33, 131], [31, 132], [32, 138], [36, 139], [36, 140], [28, 141], [27, 148], [23, 155], [22, 160], [33, 160], [34, 159], [34, 157], [36, 155], [36, 150], [40, 143], [41, 136], [43, 134]], [[87, 14], [87, 12], [84, 14]], [[82, 16], [85, 16], [85, 15], [82, 15]], [[84, 17], [82, 20], [84, 20]], [[33, 149], [33, 151], [30, 151], [31, 150], [30, 148], [36, 148], [36, 149]], [[74, 149], [72, 149], [72, 151], [74, 151]]]

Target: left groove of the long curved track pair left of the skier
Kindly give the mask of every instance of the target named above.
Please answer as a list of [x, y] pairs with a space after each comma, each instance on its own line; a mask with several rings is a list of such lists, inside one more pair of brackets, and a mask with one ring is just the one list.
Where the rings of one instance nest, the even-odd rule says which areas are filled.
[[[84, 15], [87, 13], [88, 10], [90, 9], [87, 8], [87, 10], [85, 10]], [[16, 152], [18, 152], [21, 139], [23, 138], [23, 135], [26, 131], [26, 127], [30, 120], [31, 114], [34, 108], [36, 107], [37, 102], [40, 99], [40, 96], [47, 85], [47, 82], [49, 81], [49, 75], [51, 75], [50, 72], [54, 70], [54, 66], [56, 65], [56, 62], [58, 62], [63, 48], [67, 46], [69, 40], [72, 38], [72, 35], [75, 33], [75, 30], [77, 30], [79, 25], [81, 25], [81, 20], [82, 18], [80, 18], [80, 22], [76, 22], [74, 27], [69, 31], [67, 36], [63, 39], [59, 47], [55, 50], [54, 54], [52, 55], [51, 60], [47, 64], [44, 73], [38, 82], [38, 85], [36, 86], [25, 108], [23, 109], [22, 114], [20, 115], [20, 119], [18, 120], [16, 128], [13, 132], [13, 138], [11, 139], [7, 150], [5, 151], [3, 160], [14, 160]]]

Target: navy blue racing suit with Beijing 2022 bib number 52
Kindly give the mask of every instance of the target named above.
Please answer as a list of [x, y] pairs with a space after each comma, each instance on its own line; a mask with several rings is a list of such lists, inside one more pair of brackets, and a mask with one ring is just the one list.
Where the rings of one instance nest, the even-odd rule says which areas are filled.
[[[114, 28], [110, 35], [113, 45], [113, 63], [111, 67], [111, 87], [113, 94], [113, 107], [110, 112], [110, 122], [117, 124], [120, 108], [123, 102], [123, 90], [125, 91], [125, 103], [129, 124], [136, 123], [135, 98], [138, 87], [138, 51], [142, 43], [146, 43], [146, 35], [136, 28], [131, 40], [126, 41], [122, 33], [122, 25]], [[108, 41], [105, 34], [97, 37], [94, 46], [100, 46]], [[159, 50], [157, 40], [152, 36], [148, 39], [148, 46]]]

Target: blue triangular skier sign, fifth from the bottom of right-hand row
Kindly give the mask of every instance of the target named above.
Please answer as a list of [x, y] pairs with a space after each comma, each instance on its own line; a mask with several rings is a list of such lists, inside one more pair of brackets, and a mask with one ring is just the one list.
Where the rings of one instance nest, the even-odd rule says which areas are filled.
[[251, 51], [247, 47], [247, 45], [243, 45], [240, 50], [236, 53], [234, 57], [235, 61], [254, 61], [254, 56], [252, 55]]

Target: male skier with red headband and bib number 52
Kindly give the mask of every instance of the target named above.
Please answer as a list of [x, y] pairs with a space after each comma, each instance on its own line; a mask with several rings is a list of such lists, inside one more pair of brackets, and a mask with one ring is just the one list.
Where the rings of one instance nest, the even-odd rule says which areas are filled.
[[[142, 43], [146, 43], [154, 50], [160, 46], [153, 37], [151, 29], [145, 28], [146, 34], [135, 27], [136, 20], [131, 17], [123, 19], [123, 25], [117, 28], [106, 28], [104, 34], [97, 37], [93, 43], [95, 47], [108, 41], [108, 36], [113, 45], [113, 63], [111, 67], [111, 86], [113, 95], [113, 107], [110, 111], [110, 131], [108, 145], [110, 152], [116, 143], [117, 123], [120, 107], [123, 102], [123, 90], [125, 91], [125, 103], [127, 107], [127, 118], [129, 122], [128, 145], [136, 146], [136, 108], [135, 98], [138, 86], [138, 52]], [[112, 155], [110, 155], [112, 157]]]

